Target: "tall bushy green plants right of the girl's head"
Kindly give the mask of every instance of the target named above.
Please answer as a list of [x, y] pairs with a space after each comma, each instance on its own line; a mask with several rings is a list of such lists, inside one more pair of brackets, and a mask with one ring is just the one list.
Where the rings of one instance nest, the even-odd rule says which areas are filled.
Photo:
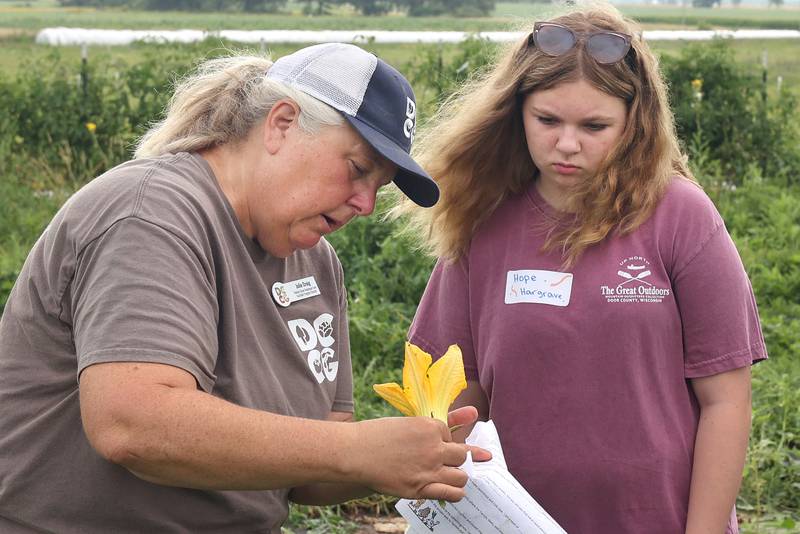
[[663, 57], [662, 70], [678, 135], [690, 156], [705, 150], [732, 184], [741, 184], [754, 163], [772, 181], [800, 183], [794, 93], [783, 88], [770, 97], [766, 85], [734, 60], [723, 39]]

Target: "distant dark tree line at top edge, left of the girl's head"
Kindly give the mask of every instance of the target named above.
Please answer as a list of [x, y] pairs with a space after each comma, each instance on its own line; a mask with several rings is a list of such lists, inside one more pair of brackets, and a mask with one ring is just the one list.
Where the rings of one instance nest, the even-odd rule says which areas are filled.
[[[393, 11], [412, 17], [452, 15], [487, 16], [495, 0], [301, 0], [306, 15], [325, 15], [337, 5], [349, 4], [362, 15], [385, 15]], [[241, 11], [277, 13], [287, 0], [59, 0], [62, 6], [126, 7], [148, 11]]]

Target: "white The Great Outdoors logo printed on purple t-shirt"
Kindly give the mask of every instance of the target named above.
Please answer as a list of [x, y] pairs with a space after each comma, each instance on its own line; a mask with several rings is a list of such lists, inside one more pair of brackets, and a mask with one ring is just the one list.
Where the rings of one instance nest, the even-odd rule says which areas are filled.
[[661, 303], [672, 293], [653, 278], [650, 262], [643, 256], [630, 256], [617, 264], [613, 282], [600, 286], [600, 294], [609, 303]]

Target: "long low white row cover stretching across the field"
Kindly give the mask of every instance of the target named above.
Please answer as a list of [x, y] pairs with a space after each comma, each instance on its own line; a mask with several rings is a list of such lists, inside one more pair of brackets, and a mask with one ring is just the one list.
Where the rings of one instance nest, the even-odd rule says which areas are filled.
[[[45, 28], [36, 42], [54, 46], [128, 45], [135, 41], [190, 43], [213, 37], [241, 43], [457, 43], [477, 35], [496, 42], [514, 41], [524, 32], [436, 32], [386, 30], [93, 30], [83, 28]], [[647, 30], [649, 41], [708, 41], [714, 37], [730, 39], [800, 39], [798, 30]]]

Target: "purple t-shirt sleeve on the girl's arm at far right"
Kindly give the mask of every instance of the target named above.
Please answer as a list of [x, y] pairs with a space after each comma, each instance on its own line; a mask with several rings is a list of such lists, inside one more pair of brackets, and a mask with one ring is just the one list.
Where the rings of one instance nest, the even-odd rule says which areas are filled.
[[673, 273], [686, 378], [722, 373], [767, 357], [753, 289], [721, 219], [696, 245], [697, 252]]

